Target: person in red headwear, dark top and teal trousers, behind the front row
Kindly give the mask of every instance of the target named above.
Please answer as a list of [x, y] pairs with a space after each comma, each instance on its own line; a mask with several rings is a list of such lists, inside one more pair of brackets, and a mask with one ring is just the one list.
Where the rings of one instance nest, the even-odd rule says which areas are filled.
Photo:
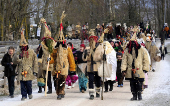
[[87, 90], [88, 78], [86, 76], [87, 71], [87, 61], [83, 61], [82, 55], [85, 50], [85, 45], [80, 45], [80, 50], [75, 53], [75, 61], [77, 64], [77, 73], [78, 73], [78, 83], [80, 92], [84, 93]]

